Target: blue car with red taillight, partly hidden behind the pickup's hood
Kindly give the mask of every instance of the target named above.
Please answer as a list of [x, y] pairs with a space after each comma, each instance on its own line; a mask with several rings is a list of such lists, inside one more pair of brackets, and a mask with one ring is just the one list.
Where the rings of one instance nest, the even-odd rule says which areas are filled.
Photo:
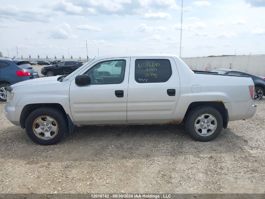
[[0, 58], [0, 100], [7, 101], [6, 87], [19, 81], [38, 78], [38, 72], [29, 61], [21, 59]]

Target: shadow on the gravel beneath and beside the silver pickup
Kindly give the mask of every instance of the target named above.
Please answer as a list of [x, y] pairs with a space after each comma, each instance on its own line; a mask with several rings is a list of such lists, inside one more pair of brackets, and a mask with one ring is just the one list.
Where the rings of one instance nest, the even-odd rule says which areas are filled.
[[[3, 132], [11, 132], [5, 133]], [[25, 130], [12, 126], [2, 130], [2, 155], [36, 161], [111, 161], [156, 157], [230, 154], [247, 141], [230, 129], [223, 129], [213, 141], [194, 141], [183, 125], [83, 126], [53, 146], [33, 143]], [[8, 144], [12, 142], [12, 144]], [[33, 153], [34, 152], [34, 153]]]

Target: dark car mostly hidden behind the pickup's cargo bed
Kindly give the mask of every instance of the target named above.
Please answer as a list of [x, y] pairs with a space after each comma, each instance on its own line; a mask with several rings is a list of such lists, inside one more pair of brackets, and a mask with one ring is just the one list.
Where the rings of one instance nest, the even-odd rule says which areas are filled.
[[228, 74], [228, 75], [245, 75], [251, 76], [254, 85], [255, 85], [255, 97], [254, 99], [261, 99], [265, 94], [265, 77], [253, 75], [251, 73], [246, 73], [240, 70], [232, 70], [232, 69], [215, 69], [211, 72], [217, 72], [219, 74]]

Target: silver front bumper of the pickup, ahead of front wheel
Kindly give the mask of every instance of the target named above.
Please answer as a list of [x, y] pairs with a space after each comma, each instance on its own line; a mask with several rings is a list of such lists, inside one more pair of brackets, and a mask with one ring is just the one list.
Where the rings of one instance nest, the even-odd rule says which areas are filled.
[[5, 105], [5, 115], [12, 124], [20, 126], [19, 120], [22, 109], [23, 106], [16, 106], [12, 101], [8, 101]]

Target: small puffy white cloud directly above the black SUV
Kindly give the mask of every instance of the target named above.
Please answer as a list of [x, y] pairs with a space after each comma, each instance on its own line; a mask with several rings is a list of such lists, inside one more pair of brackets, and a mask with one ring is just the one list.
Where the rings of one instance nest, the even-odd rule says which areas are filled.
[[70, 38], [77, 38], [77, 36], [72, 35], [72, 30], [69, 24], [67, 23], [62, 23], [58, 26], [56, 26], [52, 31], [51, 31], [51, 38], [53, 39], [70, 39]]

